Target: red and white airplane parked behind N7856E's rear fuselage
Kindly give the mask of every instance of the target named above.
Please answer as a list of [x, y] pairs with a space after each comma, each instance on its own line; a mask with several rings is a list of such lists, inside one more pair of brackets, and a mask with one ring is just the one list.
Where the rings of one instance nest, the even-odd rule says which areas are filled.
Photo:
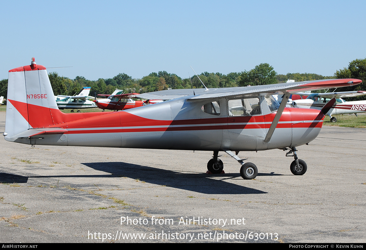
[[109, 110], [124, 110], [130, 108], [142, 107], [147, 104], [160, 103], [162, 100], [145, 100], [145, 101], [135, 101], [131, 98], [136, 97], [137, 93], [124, 94], [122, 89], [116, 89], [112, 95], [98, 94], [98, 96], [108, 97], [107, 99], [94, 100], [100, 109]]

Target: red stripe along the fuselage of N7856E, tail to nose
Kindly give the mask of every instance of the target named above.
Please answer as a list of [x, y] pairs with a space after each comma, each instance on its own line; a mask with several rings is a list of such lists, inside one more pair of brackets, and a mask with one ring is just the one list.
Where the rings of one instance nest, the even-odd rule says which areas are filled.
[[[11, 104], [36, 127], [85, 128], [85, 130], [68, 131], [68, 134], [84, 133], [115, 133], [115, 132], [156, 132], [156, 131], [192, 131], [192, 130], [225, 130], [225, 129], [254, 129], [269, 128], [276, 112], [259, 116], [233, 116], [223, 118], [184, 119], [184, 120], [154, 120], [143, 118], [129, 112], [91, 112], [64, 114], [58, 109], [41, 107], [10, 100]], [[28, 112], [27, 112], [28, 111]], [[315, 109], [285, 108], [277, 128], [291, 127], [321, 127], [324, 115]], [[292, 124], [292, 121], [306, 121]], [[309, 122], [307, 122], [309, 121]], [[198, 126], [194, 126], [198, 125]], [[150, 126], [150, 127], [146, 127]], [[156, 126], [151, 128], [151, 126]], [[160, 127], [159, 127], [160, 126]], [[111, 127], [122, 127], [108, 129]], [[128, 127], [128, 128], [123, 128]], [[106, 128], [94, 130], [93, 128]]]

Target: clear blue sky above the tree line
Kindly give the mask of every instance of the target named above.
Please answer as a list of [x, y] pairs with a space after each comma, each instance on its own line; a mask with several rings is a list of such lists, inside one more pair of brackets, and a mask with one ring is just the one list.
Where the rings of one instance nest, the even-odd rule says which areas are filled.
[[88, 80], [165, 70], [332, 76], [365, 58], [366, 1], [1, 1], [1, 73], [31, 57]]

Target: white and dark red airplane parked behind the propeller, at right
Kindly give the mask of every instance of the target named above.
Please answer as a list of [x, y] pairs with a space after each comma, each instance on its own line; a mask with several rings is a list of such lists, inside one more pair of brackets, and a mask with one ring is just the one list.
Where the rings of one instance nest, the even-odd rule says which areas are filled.
[[287, 104], [295, 108], [314, 108], [321, 110], [332, 98], [336, 98], [335, 104], [325, 115], [329, 115], [331, 122], [337, 122], [332, 115], [355, 114], [366, 112], [365, 101], [345, 101], [341, 97], [354, 97], [366, 95], [366, 91], [347, 91], [331, 93], [297, 93], [297, 95], [309, 95], [306, 99], [292, 100]]

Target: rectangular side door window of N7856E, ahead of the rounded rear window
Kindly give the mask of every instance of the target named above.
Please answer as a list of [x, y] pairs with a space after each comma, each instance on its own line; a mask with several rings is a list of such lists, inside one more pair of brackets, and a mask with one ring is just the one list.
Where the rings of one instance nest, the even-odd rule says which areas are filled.
[[228, 101], [229, 116], [260, 115], [261, 105], [258, 98], [231, 99]]

